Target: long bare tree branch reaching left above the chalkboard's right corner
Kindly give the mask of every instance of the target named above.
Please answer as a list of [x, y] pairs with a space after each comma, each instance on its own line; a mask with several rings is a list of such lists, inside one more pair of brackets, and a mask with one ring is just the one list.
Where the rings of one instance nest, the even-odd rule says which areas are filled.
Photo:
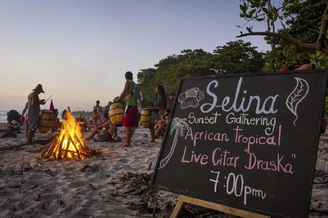
[[[326, 23], [327, 24], [327, 23]], [[240, 33], [239, 36], [236, 36], [236, 38], [240, 37], [245, 37], [245, 36], [271, 36], [274, 38], [278, 38], [281, 40], [285, 40], [287, 42], [290, 42], [291, 44], [295, 45], [297, 48], [305, 48], [305, 49], [310, 49], [310, 50], [315, 50], [315, 51], [323, 51], [324, 53], [328, 54], [328, 48], [323, 45], [322, 47], [319, 47], [316, 44], [311, 44], [311, 43], [302, 43], [299, 42], [298, 40], [295, 40], [291, 36], [285, 36], [280, 33], [273, 33], [273, 32], [253, 32], [251, 28], [246, 27], [248, 33]]]

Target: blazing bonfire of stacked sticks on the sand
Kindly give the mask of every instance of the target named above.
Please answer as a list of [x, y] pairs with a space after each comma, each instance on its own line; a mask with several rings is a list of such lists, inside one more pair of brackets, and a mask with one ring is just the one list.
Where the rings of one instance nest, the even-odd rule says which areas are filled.
[[44, 157], [50, 159], [85, 159], [87, 156], [82, 139], [81, 122], [77, 122], [70, 112], [62, 120], [62, 127], [56, 139], [47, 147]]

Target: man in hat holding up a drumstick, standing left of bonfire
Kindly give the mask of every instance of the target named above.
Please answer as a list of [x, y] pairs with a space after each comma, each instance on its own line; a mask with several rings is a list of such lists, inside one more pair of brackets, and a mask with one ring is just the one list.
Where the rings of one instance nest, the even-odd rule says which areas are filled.
[[45, 93], [42, 89], [42, 85], [38, 84], [35, 89], [32, 90], [33, 92], [30, 93], [27, 97], [28, 99], [28, 106], [27, 106], [27, 118], [28, 118], [28, 133], [27, 133], [27, 142], [31, 143], [35, 131], [38, 128], [38, 121], [40, 115], [40, 104], [44, 105], [46, 103], [45, 99], [40, 100], [39, 94]]

